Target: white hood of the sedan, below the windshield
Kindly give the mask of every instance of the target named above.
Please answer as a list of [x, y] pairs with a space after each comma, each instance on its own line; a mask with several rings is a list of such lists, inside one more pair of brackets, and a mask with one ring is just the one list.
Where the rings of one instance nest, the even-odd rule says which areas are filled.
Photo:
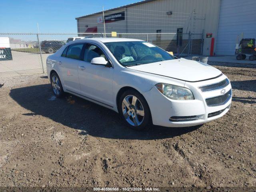
[[183, 58], [130, 66], [127, 68], [189, 82], [214, 78], [222, 73], [220, 70], [208, 64]]

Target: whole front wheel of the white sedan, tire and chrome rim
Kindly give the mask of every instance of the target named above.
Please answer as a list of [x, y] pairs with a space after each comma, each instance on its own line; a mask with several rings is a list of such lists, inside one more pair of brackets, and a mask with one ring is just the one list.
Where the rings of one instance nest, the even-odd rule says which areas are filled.
[[124, 123], [133, 130], [142, 131], [152, 124], [148, 103], [135, 90], [126, 90], [121, 95], [118, 111]]

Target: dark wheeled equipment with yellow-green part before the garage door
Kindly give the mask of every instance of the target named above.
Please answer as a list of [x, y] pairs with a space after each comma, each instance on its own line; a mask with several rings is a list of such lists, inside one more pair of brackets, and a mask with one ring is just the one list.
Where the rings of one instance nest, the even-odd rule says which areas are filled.
[[237, 60], [244, 60], [246, 56], [249, 56], [250, 61], [256, 60], [255, 39], [242, 39], [236, 49], [236, 55]]

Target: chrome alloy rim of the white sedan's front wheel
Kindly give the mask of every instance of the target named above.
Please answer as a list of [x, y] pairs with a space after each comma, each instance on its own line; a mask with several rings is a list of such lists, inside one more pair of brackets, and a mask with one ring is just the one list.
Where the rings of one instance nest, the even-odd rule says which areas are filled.
[[123, 99], [122, 112], [125, 120], [132, 126], [140, 126], [144, 120], [144, 108], [134, 95], [128, 95]]

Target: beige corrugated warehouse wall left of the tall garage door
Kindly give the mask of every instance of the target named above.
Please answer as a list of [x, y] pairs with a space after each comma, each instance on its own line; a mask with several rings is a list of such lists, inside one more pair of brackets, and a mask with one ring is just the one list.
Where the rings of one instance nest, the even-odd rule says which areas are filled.
[[[106, 32], [156, 33], [156, 30], [161, 30], [162, 33], [176, 33], [177, 28], [183, 28], [183, 33], [202, 33], [204, 29], [205, 33], [211, 32], [216, 37], [219, 7], [220, 0], [156, 0], [115, 10], [125, 10], [125, 20], [107, 23]], [[170, 16], [166, 14], [169, 11], [172, 11]], [[106, 15], [112, 13], [106, 12]], [[99, 15], [92, 15], [78, 19], [78, 32], [85, 32], [86, 25], [97, 26], [98, 32], [103, 32], [103, 24], [96, 22], [98, 17]], [[164, 35], [161, 38], [164, 39]], [[170, 36], [166, 38], [170, 39]], [[183, 38], [188, 39], [188, 35]], [[194, 38], [202, 37], [198, 35]], [[204, 39], [203, 54], [210, 54], [210, 38]]]

